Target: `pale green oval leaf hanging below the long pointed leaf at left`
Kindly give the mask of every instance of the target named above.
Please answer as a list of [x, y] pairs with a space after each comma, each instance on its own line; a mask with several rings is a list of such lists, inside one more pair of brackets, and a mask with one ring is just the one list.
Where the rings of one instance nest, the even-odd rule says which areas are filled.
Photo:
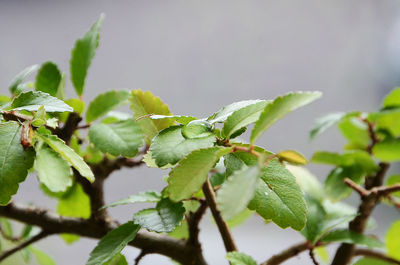
[[72, 186], [72, 172], [67, 161], [44, 144], [36, 144], [35, 150], [35, 170], [41, 183], [51, 192], [64, 192]]

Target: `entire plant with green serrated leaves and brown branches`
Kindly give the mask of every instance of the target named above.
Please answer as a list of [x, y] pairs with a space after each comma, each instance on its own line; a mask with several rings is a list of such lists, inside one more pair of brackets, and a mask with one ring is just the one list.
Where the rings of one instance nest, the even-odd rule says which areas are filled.
[[[308, 249], [313, 257], [314, 250], [320, 253], [322, 246], [341, 242], [346, 243], [341, 248], [386, 247], [387, 258], [400, 258], [398, 221], [388, 230], [385, 243], [364, 234], [379, 201], [400, 208], [399, 175], [383, 184], [388, 163], [400, 160], [400, 88], [384, 99], [377, 112], [340, 112], [317, 120], [311, 138], [337, 124], [347, 140], [342, 153], [318, 151], [311, 158], [331, 167], [321, 184], [302, 167], [308, 160], [299, 152], [272, 152], [254, 145], [270, 126], [318, 99], [320, 92], [244, 100], [202, 118], [174, 115], [159, 97], [142, 90], [110, 90], [85, 104], [81, 96], [102, 21], [103, 16], [72, 49], [70, 78], [76, 98], [65, 98], [67, 74], [54, 62], [42, 64], [35, 82], [23, 83], [39, 67], [26, 68], [11, 82], [11, 95], [0, 95], [1, 248], [36, 241], [41, 233], [57, 233], [68, 243], [78, 236], [102, 238], [88, 265], [127, 264], [121, 251], [128, 244], [141, 248], [143, 255], [159, 253], [183, 264], [205, 264], [198, 223], [210, 208], [231, 264], [256, 264], [238, 252], [229, 230], [251, 215], [304, 236], [304, 248], [281, 255]], [[126, 104], [130, 112], [118, 110]], [[85, 125], [79, 124], [82, 120]], [[88, 133], [82, 133], [84, 129]], [[249, 139], [238, 140], [246, 130]], [[169, 170], [165, 188], [105, 205], [104, 180], [122, 167], [143, 164]], [[45, 195], [58, 201], [56, 221], [29, 207], [15, 214], [11, 200], [29, 172], [37, 175]], [[358, 212], [341, 202], [353, 191], [361, 196]], [[109, 207], [144, 202], [155, 205], [132, 213], [132, 219], [119, 226], [107, 213]], [[11, 219], [27, 224], [20, 236], [15, 235]], [[75, 229], [74, 222], [84, 228]], [[42, 231], [33, 233], [31, 225]], [[32, 253], [40, 264], [55, 264], [35, 247], [21, 251], [24, 257]], [[3, 255], [8, 254], [3, 250]], [[3, 257], [0, 254], [0, 261]], [[347, 264], [344, 258], [336, 255], [333, 264]], [[368, 259], [356, 264], [365, 262]]]

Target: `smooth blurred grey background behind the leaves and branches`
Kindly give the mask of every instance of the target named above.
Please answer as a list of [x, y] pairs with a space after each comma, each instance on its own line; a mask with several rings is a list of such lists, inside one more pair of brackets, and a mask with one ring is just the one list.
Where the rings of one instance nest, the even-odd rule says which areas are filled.
[[[258, 141], [272, 151], [296, 148], [307, 157], [320, 149], [339, 151], [335, 130], [314, 141], [308, 131], [332, 111], [379, 107], [400, 85], [400, 2], [397, 0], [138, 1], [0, 0], [0, 92], [20, 70], [47, 60], [68, 73], [77, 38], [104, 12], [100, 47], [89, 70], [84, 98], [110, 89], [150, 90], [174, 113], [205, 117], [243, 99], [272, 99], [293, 90], [320, 90], [322, 99], [274, 125]], [[68, 85], [68, 95], [75, 94]], [[324, 179], [329, 167], [309, 167]], [[140, 168], [115, 173], [106, 183], [112, 202], [146, 189], [161, 190], [166, 171]], [[55, 208], [35, 176], [21, 185], [15, 201]], [[348, 200], [358, 203], [356, 196]], [[119, 220], [146, 205], [111, 210]], [[381, 238], [399, 217], [388, 206], [376, 209]], [[258, 262], [302, 240], [251, 218], [233, 230], [239, 249]], [[218, 231], [209, 217], [201, 240], [210, 264], [227, 264]], [[84, 264], [96, 242], [67, 246], [57, 237], [39, 246], [59, 265]], [[330, 251], [334, 248], [330, 248]], [[124, 254], [133, 264], [138, 250]], [[141, 264], [171, 264], [146, 256]], [[306, 254], [285, 264], [311, 264]]]

